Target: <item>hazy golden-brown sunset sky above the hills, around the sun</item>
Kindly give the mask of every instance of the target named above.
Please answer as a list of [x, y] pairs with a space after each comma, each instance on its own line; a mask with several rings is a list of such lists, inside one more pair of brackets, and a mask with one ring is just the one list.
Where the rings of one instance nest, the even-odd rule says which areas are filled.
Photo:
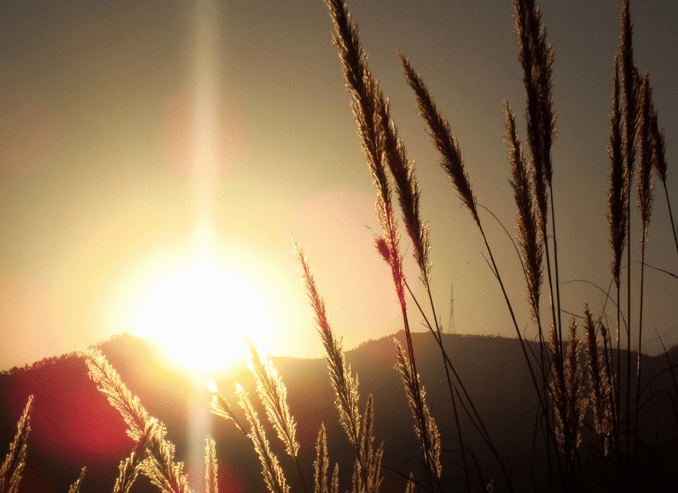
[[[607, 135], [620, 3], [540, 2], [556, 53], [561, 292], [563, 308], [577, 314], [584, 301], [601, 313], [599, 288], [611, 279]], [[437, 164], [396, 56], [399, 48], [410, 58], [450, 121], [478, 202], [513, 233], [502, 101], [519, 115], [523, 141], [525, 101], [511, 2], [348, 5], [416, 162], [443, 325], [453, 286], [457, 332], [514, 336], [481, 238]], [[632, 18], [678, 207], [678, 6], [634, 1]], [[243, 317], [267, 321], [272, 355], [322, 350], [293, 240], [345, 348], [402, 328], [373, 248], [375, 193], [331, 34], [322, 0], [2, 2], [0, 370], [133, 332], [149, 286], [196, 248], [258, 293]], [[654, 210], [647, 262], [676, 273], [661, 187]], [[519, 324], [533, 338], [515, 251], [483, 214]], [[403, 249], [409, 258], [406, 241]], [[407, 273], [417, 284], [411, 265]], [[647, 272], [649, 351], [660, 349], [657, 334], [678, 343], [676, 295], [675, 278]]]

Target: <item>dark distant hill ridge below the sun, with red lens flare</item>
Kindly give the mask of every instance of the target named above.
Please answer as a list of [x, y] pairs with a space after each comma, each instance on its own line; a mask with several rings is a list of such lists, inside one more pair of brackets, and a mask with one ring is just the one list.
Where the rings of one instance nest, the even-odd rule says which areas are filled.
[[[456, 479], [454, 485], [448, 485], [448, 491], [456, 491], [463, 486], [461, 457], [456, 452], [457, 433], [439, 349], [430, 335], [413, 336], [418, 371], [443, 436], [443, 466], [453, 470], [452, 476]], [[384, 491], [403, 491], [400, 473], [407, 474], [419, 467], [418, 441], [402, 384], [394, 369], [394, 337], [404, 342], [403, 333], [399, 333], [366, 342], [346, 354], [347, 362], [359, 375], [361, 403], [364, 405], [368, 393], [375, 397], [375, 435], [377, 441], [385, 442], [386, 450]], [[516, 485], [520, 490], [528, 488], [532, 481], [530, 471], [538, 484], [546, 476], [546, 468], [542, 451], [532, 449], [536, 399], [518, 341], [447, 334], [444, 343]], [[531, 347], [536, 351], [536, 344], [532, 343]], [[204, 475], [204, 440], [208, 433], [217, 440], [221, 491], [265, 491], [258, 460], [247, 440], [232, 423], [209, 413], [211, 394], [203, 382], [191, 382], [163, 367], [153, 346], [142, 339], [117, 336], [101, 348], [129, 389], [152, 415], [165, 423], [168, 438], [177, 445], [177, 458], [187, 463], [197, 491], [201, 489]], [[671, 373], [666, 371], [667, 357], [678, 363], [678, 350], [674, 348], [668, 355], [645, 358], [644, 368], [648, 381], [650, 375], [654, 376], [652, 391], [656, 395], [648, 416], [652, 416], [657, 426], [653, 423], [649, 428], [659, 431], [656, 436], [648, 436], [648, 442], [656, 450], [665, 452], [661, 457], [669, 461], [665, 466], [670, 471], [678, 469], [678, 456], [671, 456], [678, 450], [678, 423], [666, 397], [669, 393], [675, 397]], [[347, 486], [354, 453], [338, 425], [325, 361], [296, 358], [274, 358], [273, 361], [288, 388], [290, 408], [298, 423], [301, 462], [307, 481], [312, 481], [315, 438], [320, 423], [324, 422], [330, 458], [340, 463], [343, 484]], [[254, 393], [252, 377], [242, 368], [228, 378], [219, 379], [222, 395], [235, 400], [235, 381]], [[118, 463], [131, 450], [132, 441], [126, 436], [117, 411], [96, 390], [87, 377], [84, 362], [74, 354], [0, 374], [0, 458], [7, 452], [30, 394], [35, 395], [32, 432], [20, 491], [66, 492], [82, 466], [87, 467], [83, 493], [110, 491]], [[263, 416], [263, 412], [261, 414]], [[474, 489], [476, 484], [499, 479], [496, 461], [467, 419], [462, 421], [462, 430], [463, 439], [482, 471], [481, 479], [475, 470], [471, 475], [473, 481], [478, 481]], [[279, 451], [283, 466], [291, 466], [277, 439], [273, 434], [269, 438]], [[197, 466], [192, 465], [194, 458]], [[291, 474], [293, 469], [287, 469]], [[289, 479], [293, 485], [297, 483], [295, 477]], [[141, 479], [133, 491], [156, 490]]]

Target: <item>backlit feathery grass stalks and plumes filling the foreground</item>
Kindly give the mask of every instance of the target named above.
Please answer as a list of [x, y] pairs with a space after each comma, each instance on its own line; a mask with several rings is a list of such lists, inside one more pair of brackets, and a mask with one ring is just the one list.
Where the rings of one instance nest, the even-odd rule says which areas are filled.
[[[427, 222], [420, 216], [421, 190], [414, 166], [390, 116], [388, 99], [367, 66], [357, 26], [346, 5], [342, 0], [326, 0], [326, 3], [335, 27], [334, 42], [351, 96], [362, 149], [377, 192], [376, 210], [382, 231], [375, 235], [375, 247], [392, 273], [405, 331], [404, 346], [395, 344], [394, 362], [412, 412], [421, 463], [421, 468], [416, 471], [400, 471], [408, 478], [405, 490], [515, 491], [505, 458], [495, 446], [483, 416], [474, 405], [473, 396], [467, 391], [455, 362], [443, 345], [442, 328], [431, 292], [429, 230]], [[653, 105], [649, 76], [641, 74], [634, 62], [629, 1], [622, 2], [619, 48], [614, 55], [608, 147], [610, 184], [607, 217], [613, 286], [608, 295], [614, 314], [592, 313], [584, 303], [580, 322], [574, 317], [564, 319], [560, 306], [558, 223], [554, 210], [551, 160], [551, 149], [557, 136], [556, 111], [551, 96], [554, 51], [547, 42], [538, 5], [530, 0], [514, 0], [513, 3], [526, 93], [527, 150], [519, 137], [516, 118], [508, 102], [504, 105], [505, 142], [517, 207], [515, 241], [524, 273], [526, 300], [532, 323], [537, 329], [537, 351], [527, 344], [525, 331], [516, 319], [512, 301], [495, 263], [492, 245], [485, 235], [483, 218], [452, 126], [438, 110], [424, 81], [402, 53], [399, 53], [400, 62], [419, 113], [440, 154], [441, 167], [483, 239], [488, 263], [523, 351], [538, 405], [533, 440], [547, 456], [547, 470], [535, 471], [534, 474], [547, 478], [542, 487], [551, 491], [654, 490], [666, 478], [652, 476], [646, 467], [654, 460], [654, 450], [644, 439], [642, 423], [648, 402], [654, 396], [643, 385], [644, 368], [640, 355], [643, 348], [645, 251], [657, 179], [664, 188], [671, 217], [672, 214], [667, 189], [664, 134]], [[639, 219], [635, 219], [634, 201]], [[399, 216], [397, 208], [400, 209]], [[400, 221], [402, 230], [406, 232], [404, 239], [400, 236]], [[673, 219], [672, 229], [678, 255]], [[404, 241], [413, 251], [426, 299], [414, 296], [410, 281], [404, 274], [403, 251], [408, 250], [401, 245]], [[251, 370], [257, 382], [256, 396], [260, 402], [253, 402], [248, 392], [238, 387], [239, 409], [231, 406], [228, 398], [217, 395], [211, 404], [212, 412], [231, 422], [251, 442], [261, 462], [264, 483], [271, 492], [290, 491], [288, 475], [291, 474], [299, 475], [299, 482], [306, 492], [338, 493], [347, 487], [359, 493], [381, 491], [382, 459], [387, 444], [378, 444], [374, 436], [373, 398], [367, 396], [361, 401], [357, 375], [347, 366], [341, 339], [329, 324], [309, 261], [301, 247], [295, 247], [318, 334], [324, 344], [339, 422], [355, 450], [351, 485], [339, 484], [338, 467], [332, 466], [324, 426], [317, 435], [312, 481], [304, 477], [299, 461], [296, 421], [287, 405], [286, 388], [271, 362], [258, 355], [254, 348], [251, 351]], [[632, 262], [635, 257], [640, 260], [638, 266]], [[637, 276], [634, 275], [636, 269], [639, 270]], [[637, 280], [635, 285], [634, 280]], [[457, 447], [460, 467], [452, 467], [443, 457], [441, 434], [417, 371], [410, 329], [412, 310], [425, 320], [440, 349], [441, 369], [445, 372], [454, 411], [449, 419], [454, 420], [456, 430], [454, 443], [448, 444], [447, 448]], [[613, 325], [610, 326], [608, 320], [613, 320]], [[634, 345], [638, 355], [635, 361], [631, 351]], [[622, 354], [624, 359], [619, 357]], [[140, 474], [150, 478], [161, 491], [189, 491], [187, 475], [182, 463], [175, 460], [174, 445], [166, 439], [162, 423], [150, 416], [139, 399], [129, 392], [100, 352], [87, 350], [82, 356], [91, 378], [121, 413], [128, 434], [135, 442], [134, 450], [120, 464], [113, 491], [130, 491]], [[673, 373], [673, 367], [670, 368]], [[674, 390], [670, 399], [678, 424], [678, 385]], [[0, 492], [18, 490], [25, 463], [31, 405], [32, 400], [29, 400], [2, 465]], [[266, 411], [268, 425], [259, 418], [256, 411], [259, 405]], [[292, 468], [281, 466], [281, 460], [267, 437], [271, 431], [282, 443], [285, 454], [290, 456]], [[466, 445], [468, 438], [465, 437], [469, 434], [481, 437], [495, 466], [501, 471], [501, 477], [490, 480], [483, 475], [483, 464], [475, 462], [474, 451]], [[582, 458], [584, 446], [591, 457], [587, 461]], [[205, 458], [206, 491], [215, 492], [217, 460], [215, 443], [211, 438], [207, 438]], [[83, 475], [73, 484], [71, 492], [79, 491]]]

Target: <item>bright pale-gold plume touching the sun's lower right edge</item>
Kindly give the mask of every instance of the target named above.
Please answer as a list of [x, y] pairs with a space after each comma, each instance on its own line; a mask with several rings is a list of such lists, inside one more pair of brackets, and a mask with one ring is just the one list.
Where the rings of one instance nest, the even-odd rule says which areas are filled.
[[297, 424], [290, 414], [285, 384], [273, 363], [268, 358], [262, 360], [251, 344], [249, 363], [257, 381], [257, 394], [266, 408], [268, 420], [285, 445], [285, 451], [290, 456], [297, 457], [299, 454], [299, 443], [296, 439]]

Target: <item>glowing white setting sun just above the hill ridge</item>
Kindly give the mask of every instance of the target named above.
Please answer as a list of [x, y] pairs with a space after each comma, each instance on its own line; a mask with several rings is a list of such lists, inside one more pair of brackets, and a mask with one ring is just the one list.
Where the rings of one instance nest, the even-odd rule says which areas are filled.
[[132, 332], [167, 360], [209, 378], [245, 360], [248, 344], [266, 353], [273, 319], [261, 289], [214, 258], [177, 262], [141, 290]]

